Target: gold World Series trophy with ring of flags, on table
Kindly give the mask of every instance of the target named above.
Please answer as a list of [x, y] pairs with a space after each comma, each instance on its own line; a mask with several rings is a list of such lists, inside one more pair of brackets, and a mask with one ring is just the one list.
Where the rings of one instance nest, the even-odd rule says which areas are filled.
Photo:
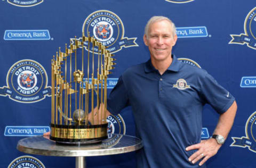
[[[65, 52], [61, 52], [59, 47], [59, 52], [51, 61], [50, 139], [61, 144], [95, 144], [108, 138], [107, 78], [116, 64], [113, 63], [114, 55], [97, 39], [90, 37], [90, 33], [87, 33], [88, 37], [85, 37], [84, 32], [82, 34], [81, 38], [70, 40], [69, 47], [66, 44]], [[84, 58], [86, 50], [87, 59]], [[94, 67], [96, 60], [98, 67]], [[97, 68], [97, 75], [94, 68]], [[87, 77], [84, 78], [86, 73]], [[91, 123], [89, 113], [96, 118]]]

